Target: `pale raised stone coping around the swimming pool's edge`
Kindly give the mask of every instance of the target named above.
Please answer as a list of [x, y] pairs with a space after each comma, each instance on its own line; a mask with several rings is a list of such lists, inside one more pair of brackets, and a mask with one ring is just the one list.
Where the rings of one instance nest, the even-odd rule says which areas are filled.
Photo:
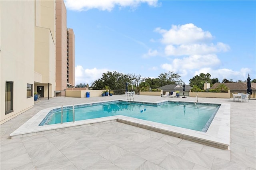
[[[110, 100], [110, 101], [104, 101], [104, 103], [113, 102], [113, 101], [127, 102], [127, 100]], [[146, 102], [146, 101], [135, 101], [135, 102], [157, 104], [157, 103], [162, 103], [166, 101], [172, 101], [172, 100], [169, 99], [169, 100], [163, 100], [158, 102]], [[179, 102], [179, 101], [172, 101], [172, 102]], [[180, 102], [192, 103], [191, 101], [180, 101]], [[93, 104], [93, 103], [102, 103], [102, 101], [77, 104], [77, 105], [87, 105], [87, 104]], [[206, 103], [206, 102], [200, 102], [200, 103]], [[219, 104], [220, 108], [218, 109], [218, 112], [216, 113], [214, 119], [212, 120], [212, 123], [208, 128], [207, 132], [200, 132], [196, 130], [190, 130], [186, 128], [171, 126], [171, 125], [164, 125], [161, 123], [155, 123], [151, 121], [136, 119], [132, 117], [126, 117], [122, 115], [76, 121], [74, 123], [68, 122], [63, 124], [38, 126], [41, 123], [41, 121], [44, 119], [44, 117], [46, 117], [46, 115], [52, 109], [61, 107], [61, 106], [58, 106], [58, 107], [50, 107], [50, 108], [39, 111], [26, 123], [24, 123], [18, 129], [16, 129], [14, 132], [12, 132], [10, 136], [11, 138], [31, 136], [35, 134], [58, 131], [58, 130], [72, 128], [72, 127], [81, 126], [81, 125], [89, 126], [96, 123], [107, 123], [111, 121], [118, 121], [121, 123], [133, 125], [136, 127], [146, 128], [148, 130], [154, 130], [156, 132], [160, 132], [163, 134], [168, 134], [168, 135], [183, 138], [186, 140], [214, 146], [217, 148], [228, 149], [230, 144], [230, 104], [229, 103], [210, 103], [210, 104]], [[65, 107], [67, 106], [72, 106], [72, 105], [65, 105]]]

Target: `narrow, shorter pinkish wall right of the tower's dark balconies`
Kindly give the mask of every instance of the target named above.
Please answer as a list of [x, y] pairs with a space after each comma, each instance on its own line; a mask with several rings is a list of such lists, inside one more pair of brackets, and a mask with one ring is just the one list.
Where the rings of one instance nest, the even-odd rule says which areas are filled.
[[75, 34], [73, 29], [68, 28], [69, 31], [69, 83], [75, 86]]

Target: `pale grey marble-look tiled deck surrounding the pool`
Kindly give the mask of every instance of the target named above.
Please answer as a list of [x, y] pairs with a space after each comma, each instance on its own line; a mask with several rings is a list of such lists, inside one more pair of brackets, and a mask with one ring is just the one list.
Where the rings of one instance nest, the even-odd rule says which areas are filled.
[[[126, 97], [54, 97], [36, 101], [32, 109], [0, 125], [0, 169], [256, 169], [256, 100], [241, 103], [232, 99], [198, 99], [230, 104], [228, 150], [117, 121], [10, 138], [43, 109], [118, 99]], [[134, 99], [158, 102], [165, 97], [135, 95]], [[168, 99], [195, 101], [194, 97], [182, 96]]]

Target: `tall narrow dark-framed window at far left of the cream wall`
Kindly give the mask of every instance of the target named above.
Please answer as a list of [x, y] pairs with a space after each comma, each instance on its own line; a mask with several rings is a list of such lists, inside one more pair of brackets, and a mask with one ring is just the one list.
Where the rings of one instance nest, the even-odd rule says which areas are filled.
[[5, 114], [13, 112], [13, 82], [5, 82]]

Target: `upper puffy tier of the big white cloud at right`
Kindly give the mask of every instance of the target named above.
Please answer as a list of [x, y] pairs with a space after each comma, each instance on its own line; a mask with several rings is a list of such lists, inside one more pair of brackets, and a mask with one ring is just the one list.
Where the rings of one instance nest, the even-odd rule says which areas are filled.
[[161, 42], [164, 44], [180, 45], [212, 40], [212, 34], [210, 32], [204, 31], [194, 24], [172, 25], [170, 30], [156, 28], [155, 31], [162, 34]]

